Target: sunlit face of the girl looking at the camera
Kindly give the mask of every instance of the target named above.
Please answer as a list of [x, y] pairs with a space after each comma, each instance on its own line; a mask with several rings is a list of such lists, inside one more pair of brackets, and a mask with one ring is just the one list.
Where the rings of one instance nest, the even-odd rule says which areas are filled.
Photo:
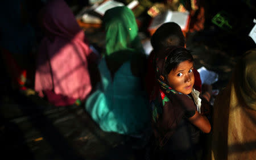
[[168, 74], [169, 86], [182, 94], [190, 94], [194, 82], [193, 62], [183, 61]]

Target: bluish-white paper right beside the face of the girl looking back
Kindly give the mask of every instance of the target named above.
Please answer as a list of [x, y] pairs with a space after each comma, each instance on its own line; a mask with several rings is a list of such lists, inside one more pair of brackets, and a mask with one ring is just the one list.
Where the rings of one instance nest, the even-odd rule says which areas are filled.
[[204, 66], [197, 69], [200, 74], [202, 84], [212, 85], [214, 82], [218, 81], [218, 74], [214, 71], [207, 70]]

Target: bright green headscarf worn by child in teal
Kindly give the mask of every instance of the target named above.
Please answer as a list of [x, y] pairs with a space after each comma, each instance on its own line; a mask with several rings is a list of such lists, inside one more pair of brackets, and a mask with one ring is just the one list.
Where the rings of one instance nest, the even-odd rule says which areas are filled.
[[103, 22], [106, 32], [106, 56], [120, 50], [143, 51], [135, 16], [126, 6], [106, 11]]

